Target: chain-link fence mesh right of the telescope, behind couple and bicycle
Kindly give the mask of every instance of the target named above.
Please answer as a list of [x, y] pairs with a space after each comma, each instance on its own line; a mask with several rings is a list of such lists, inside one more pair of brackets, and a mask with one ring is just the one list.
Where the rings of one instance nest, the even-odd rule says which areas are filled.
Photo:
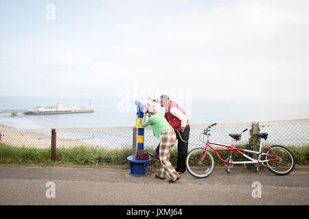
[[[203, 135], [203, 130], [207, 125], [190, 125], [190, 140], [188, 150], [203, 147], [207, 138]], [[222, 144], [245, 145], [248, 144], [252, 123], [226, 123], [218, 124], [211, 128], [209, 140]], [[263, 144], [281, 144], [284, 146], [306, 146], [309, 144], [309, 119], [306, 120], [286, 120], [262, 122], [259, 124], [260, 133], [268, 133], [268, 138]], [[229, 133], [242, 133], [241, 140], [234, 142]], [[152, 130], [145, 131], [145, 146], [147, 148], [157, 147], [159, 140], [152, 134]]]

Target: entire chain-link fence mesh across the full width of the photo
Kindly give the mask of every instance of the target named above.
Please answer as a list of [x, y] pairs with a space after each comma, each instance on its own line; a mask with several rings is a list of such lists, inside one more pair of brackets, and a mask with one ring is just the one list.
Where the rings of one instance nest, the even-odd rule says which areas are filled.
[[[188, 150], [205, 145], [205, 135], [203, 129], [207, 125], [190, 125], [190, 140]], [[238, 142], [232, 142], [229, 133], [240, 133], [244, 129], [251, 129], [252, 123], [227, 123], [218, 124], [211, 128], [211, 142], [222, 144], [247, 144], [250, 132], [242, 133], [242, 138]], [[268, 139], [264, 144], [281, 144], [284, 146], [308, 146], [309, 145], [309, 119], [285, 120], [262, 122], [260, 132], [267, 132]], [[57, 155], [60, 149], [82, 148], [82, 153], [97, 154], [96, 159], [103, 159], [108, 153], [117, 154], [114, 159], [132, 155], [133, 153], [133, 131], [134, 127], [113, 127], [113, 128], [88, 128], [88, 129], [56, 129], [56, 149]], [[10, 149], [11, 153], [25, 149], [51, 149], [52, 131], [50, 129], [32, 130], [1, 130], [0, 156], [4, 156], [5, 150]], [[151, 127], [146, 127], [144, 131], [144, 148], [155, 150], [160, 140], [153, 136]], [[5, 149], [5, 150], [4, 150]], [[86, 151], [85, 151], [86, 150]], [[13, 152], [12, 152], [13, 151]], [[101, 151], [100, 155], [97, 151]], [[119, 155], [119, 151], [125, 151], [124, 155]], [[125, 159], [124, 159], [125, 160]]]

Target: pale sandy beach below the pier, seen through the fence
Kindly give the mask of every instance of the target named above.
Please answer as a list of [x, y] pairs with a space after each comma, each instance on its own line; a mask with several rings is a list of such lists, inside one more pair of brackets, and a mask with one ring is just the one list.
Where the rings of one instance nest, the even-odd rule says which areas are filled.
[[[10, 132], [12, 130], [12, 132]], [[38, 131], [38, 132], [23, 132], [23, 129], [16, 129], [7, 125], [0, 124], [0, 133], [2, 140], [0, 143], [16, 146], [16, 147], [31, 147], [37, 149], [47, 149], [51, 147], [51, 131]], [[69, 138], [57, 138], [57, 148], [65, 147], [71, 148], [75, 146], [93, 146], [86, 142], [78, 140], [70, 140]]]

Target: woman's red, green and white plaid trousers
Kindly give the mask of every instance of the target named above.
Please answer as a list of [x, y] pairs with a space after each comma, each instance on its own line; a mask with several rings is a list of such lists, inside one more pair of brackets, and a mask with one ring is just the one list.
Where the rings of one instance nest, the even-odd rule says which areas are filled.
[[161, 133], [161, 143], [159, 148], [159, 157], [161, 166], [158, 176], [165, 178], [166, 175], [174, 180], [179, 177], [172, 164], [170, 163], [170, 151], [176, 142], [176, 133], [174, 130], [163, 131]]

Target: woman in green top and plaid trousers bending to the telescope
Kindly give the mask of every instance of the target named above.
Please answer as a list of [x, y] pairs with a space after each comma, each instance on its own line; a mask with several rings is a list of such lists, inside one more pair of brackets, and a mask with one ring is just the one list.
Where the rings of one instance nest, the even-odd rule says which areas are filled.
[[170, 177], [169, 183], [174, 183], [180, 179], [180, 175], [172, 164], [170, 163], [170, 151], [176, 142], [176, 133], [174, 129], [168, 123], [168, 120], [164, 116], [158, 113], [159, 106], [155, 103], [150, 105], [148, 112], [151, 115], [146, 122], [147, 108], [143, 109], [144, 117], [141, 125], [146, 127], [151, 125], [154, 136], [158, 139], [161, 137], [161, 143], [159, 148], [159, 157], [160, 157], [160, 170], [159, 174], [156, 175], [158, 179], [165, 179], [166, 175]]

